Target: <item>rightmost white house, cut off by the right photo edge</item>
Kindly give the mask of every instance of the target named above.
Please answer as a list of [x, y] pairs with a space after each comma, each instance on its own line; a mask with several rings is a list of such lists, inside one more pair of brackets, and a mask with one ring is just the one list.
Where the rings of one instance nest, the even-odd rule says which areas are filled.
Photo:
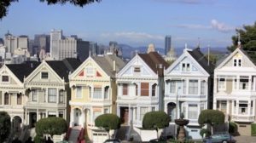
[[255, 123], [256, 66], [254, 53], [237, 48], [214, 70], [213, 108], [224, 112], [226, 121], [237, 123], [241, 135], [251, 135]]

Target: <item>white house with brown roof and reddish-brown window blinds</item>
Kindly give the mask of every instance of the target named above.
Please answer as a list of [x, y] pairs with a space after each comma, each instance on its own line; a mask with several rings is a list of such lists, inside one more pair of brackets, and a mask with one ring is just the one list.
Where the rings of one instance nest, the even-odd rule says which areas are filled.
[[[117, 74], [117, 115], [123, 124], [142, 128], [146, 112], [163, 111], [163, 70], [157, 52], [136, 54]], [[129, 138], [128, 138], [129, 139]]]

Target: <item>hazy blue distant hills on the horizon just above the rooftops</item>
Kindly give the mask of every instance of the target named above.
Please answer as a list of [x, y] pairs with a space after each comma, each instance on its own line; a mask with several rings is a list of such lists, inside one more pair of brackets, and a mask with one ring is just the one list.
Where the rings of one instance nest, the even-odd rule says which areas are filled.
[[[146, 53], [148, 47], [146, 46], [141, 46], [141, 47], [131, 47], [128, 44], [119, 44], [119, 47], [123, 49], [123, 57], [124, 58], [131, 58], [132, 54], [137, 50], [138, 53]], [[165, 53], [165, 49], [163, 48], [155, 48], [156, 51], [158, 51], [160, 54]], [[177, 56], [183, 53], [183, 48], [176, 48], [175, 49]], [[201, 48], [201, 52], [203, 54], [208, 53], [208, 48]], [[226, 48], [210, 48], [210, 53], [211, 54], [227, 54], [229, 51]]]

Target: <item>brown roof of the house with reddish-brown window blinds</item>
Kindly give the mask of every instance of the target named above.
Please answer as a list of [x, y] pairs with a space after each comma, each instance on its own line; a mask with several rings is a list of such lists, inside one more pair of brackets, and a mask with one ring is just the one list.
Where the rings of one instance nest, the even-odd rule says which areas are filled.
[[[164, 66], [164, 68], [166, 69], [169, 65], [166, 62], [166, 60], [164, 60], [162, 58], [162, 56], [160, 54], [158, 54], [157, 52], [150, 52], [148, 54], [138, 54], [143, 60], [144, 62], [155, 72], [159, 72], [159, 65]], [[160, 72], [160, 75], [162, 76], [162, 72]]]

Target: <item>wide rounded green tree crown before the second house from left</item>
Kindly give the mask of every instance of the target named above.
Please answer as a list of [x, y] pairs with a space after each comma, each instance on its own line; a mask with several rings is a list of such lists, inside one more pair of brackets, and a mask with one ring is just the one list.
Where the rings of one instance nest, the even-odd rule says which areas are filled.
[[61, 117], [42, 118], [36, 124], [36, 133], [40, 136], [43, 134], [63, 134], [67, 132], [67, 122]]

